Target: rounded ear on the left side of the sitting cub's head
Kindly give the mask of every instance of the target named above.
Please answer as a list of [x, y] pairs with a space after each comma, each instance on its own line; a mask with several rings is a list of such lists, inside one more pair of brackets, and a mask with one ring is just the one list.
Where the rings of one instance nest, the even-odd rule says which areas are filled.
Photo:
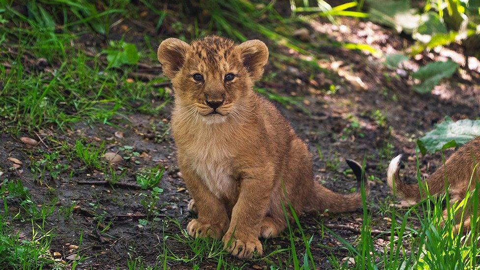
[[173, 79], [185, 62], [190, 45], [177, 38], [167, 38], [158, 46], [157, 57], [162, 63], [162, 70]]

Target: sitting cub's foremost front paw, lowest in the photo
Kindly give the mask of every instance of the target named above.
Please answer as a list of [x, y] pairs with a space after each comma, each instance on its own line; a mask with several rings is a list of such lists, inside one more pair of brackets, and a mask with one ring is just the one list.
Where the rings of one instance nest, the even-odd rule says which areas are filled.
[[238, 238], [232, 234], [226, 234], [223, 236], [223, 248], [230, 252], [230, 254], [237, 256], [241, 259], [251, 259], [256, 251], [259, 255], [263, 254], [262, 242], [258, 238]]

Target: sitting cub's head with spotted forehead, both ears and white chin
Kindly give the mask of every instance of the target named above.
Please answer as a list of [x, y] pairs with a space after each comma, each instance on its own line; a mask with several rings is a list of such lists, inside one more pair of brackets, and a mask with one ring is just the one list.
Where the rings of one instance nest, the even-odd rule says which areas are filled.
[[260, 40], [236, 45], [208, 36], [191, 44], [165, 39], [157, 56], [172, 81], [177, 106], [214, 123], [249, 110], [253, 82], [262, 77], [269, 51]]

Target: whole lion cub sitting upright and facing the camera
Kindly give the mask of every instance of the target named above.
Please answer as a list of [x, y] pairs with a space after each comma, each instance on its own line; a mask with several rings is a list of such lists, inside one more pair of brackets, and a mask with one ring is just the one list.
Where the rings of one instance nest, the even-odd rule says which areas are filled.
[[[262, 41], [236, 45], [218, 36], [191, 44], [168, 38], [158, 48], [175, 93], [171, 128], [178, 163], [198, 211], [187, 231], [223, 236], [225, 248], [240, 258], [262, 254], [259, 237], [285, 229], [282, 204], [298, 213], [361, 205], [360, 193], [337, 194], [313, 180], [307, 146], [253, 90], [268, 56]], [[360, 179], [359, 165], [350, 165]]]

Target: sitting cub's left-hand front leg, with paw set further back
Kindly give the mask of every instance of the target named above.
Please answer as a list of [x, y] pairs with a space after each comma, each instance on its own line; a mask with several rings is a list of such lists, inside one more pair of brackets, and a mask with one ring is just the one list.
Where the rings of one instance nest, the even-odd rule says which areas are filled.
[[229, 219], [225, 206], [210, 192], [203, 180], [188, 166], [180, 166], [188, 192], [195, 200], [198, 217], [187, 225], [191, 237], [211, 237], [220, 239], [227, 231]]

